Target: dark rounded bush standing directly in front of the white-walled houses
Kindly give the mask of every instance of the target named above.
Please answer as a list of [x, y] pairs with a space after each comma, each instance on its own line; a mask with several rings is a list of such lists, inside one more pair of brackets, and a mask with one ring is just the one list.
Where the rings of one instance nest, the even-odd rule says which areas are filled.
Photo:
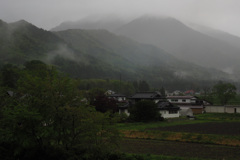
[[130, 119], [134, 121], [156, 121], [161, 117], [157, 105], [150, 100], [137, 102], [130, 108]]

